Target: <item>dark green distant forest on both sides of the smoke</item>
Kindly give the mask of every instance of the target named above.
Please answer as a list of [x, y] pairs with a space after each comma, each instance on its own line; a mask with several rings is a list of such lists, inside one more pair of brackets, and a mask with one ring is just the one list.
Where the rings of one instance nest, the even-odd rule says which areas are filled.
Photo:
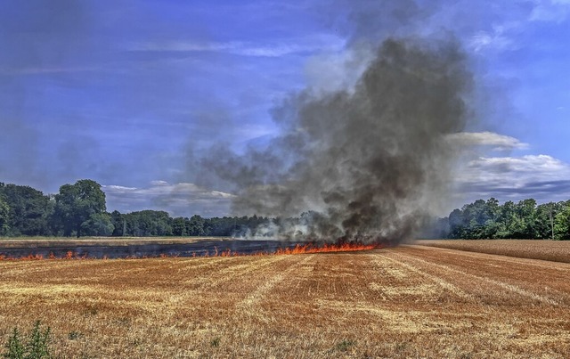
[[[275, 221], [262, 216], [171, 217], [165, 211], [107, 212], [105, 193], [93, 180], [64, 184], [45, 195], [0, 183], [1, 236], [231, 236]], [[424, 236], [457, 239], [570, 239], [570, 200], [537, 205], [476, 200], [428, 225]]]

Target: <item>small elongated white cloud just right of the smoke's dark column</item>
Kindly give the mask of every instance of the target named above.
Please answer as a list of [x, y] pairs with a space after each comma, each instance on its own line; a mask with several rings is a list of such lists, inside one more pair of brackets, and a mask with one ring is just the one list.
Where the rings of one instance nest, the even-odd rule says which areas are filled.
[[517, 138], [508, 135], [499, 135], [494, 132], [460, 132], [448, 135], [448, 140], [453, 144], [462, 146], [489, 146], [494, 151], [523, 150], [528, 148], [528, 143], [522, 143]]

